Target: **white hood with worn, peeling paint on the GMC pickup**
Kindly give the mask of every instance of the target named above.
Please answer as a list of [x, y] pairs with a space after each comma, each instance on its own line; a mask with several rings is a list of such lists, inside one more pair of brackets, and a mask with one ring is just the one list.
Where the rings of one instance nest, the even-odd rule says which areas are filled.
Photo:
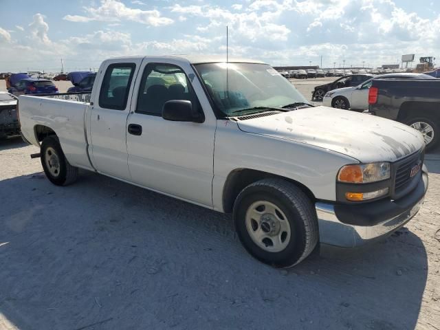
[[366, 113], [311, 107], [237, 122], [248, 133], [310, 144], [360, 162], [394, 162], [423, 148], [423, 136], [399, 122]]

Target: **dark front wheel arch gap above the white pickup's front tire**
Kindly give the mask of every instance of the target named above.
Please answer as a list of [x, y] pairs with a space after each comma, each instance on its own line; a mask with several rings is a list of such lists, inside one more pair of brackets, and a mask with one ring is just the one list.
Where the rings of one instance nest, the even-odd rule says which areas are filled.
[[284, 179], [285, 181], [288, 181], [301, 190], [305, 192], [307, 197], [311, 199], [311, 201], [316, 201], [316, 197], [313, 192], [307, 186], [302, 184], [299, 181], [296, 181], [294, 179], [290, 179], [289, 177], [283, 177], [281, 175], [276, 175], [274, 173], [268, 173], [261, 170], [254, 170], [252, 168], [236, 168], [232, 170], [228, 177], [225, 180], [225, 184], [223, 186], [223, 195], [222, 195], [222, 202], [223, 202], [223, 212], [230, 213], [232, 212], [234, 208], [234, 203], [236, 201], [236, 197], [239, 195], [241, 190], [245, 188], [246, 186], [249, 186], [250, 184], [259, 181], [261, 179], [268, 179], [268, 178], [278, 178], [278, 179]]

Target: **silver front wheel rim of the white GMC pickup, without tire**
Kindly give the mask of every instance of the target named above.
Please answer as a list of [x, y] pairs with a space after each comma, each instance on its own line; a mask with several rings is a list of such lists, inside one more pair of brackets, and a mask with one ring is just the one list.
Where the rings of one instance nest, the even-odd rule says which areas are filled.
[[267, 252], [283, 251], [290, 241], [289, 221], [274, 203], [256, 201], [246, 211], [246, 229], [252, 241]]

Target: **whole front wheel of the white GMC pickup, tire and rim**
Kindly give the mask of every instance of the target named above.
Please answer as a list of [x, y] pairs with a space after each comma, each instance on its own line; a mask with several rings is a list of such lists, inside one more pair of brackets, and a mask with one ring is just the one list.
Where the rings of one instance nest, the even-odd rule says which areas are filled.
[[263, 179], [244, 188], [234, 203], [234, 225], [245, 249], [275, 267], [300, 263], [318, 243], [314, 204], [283, 179]]

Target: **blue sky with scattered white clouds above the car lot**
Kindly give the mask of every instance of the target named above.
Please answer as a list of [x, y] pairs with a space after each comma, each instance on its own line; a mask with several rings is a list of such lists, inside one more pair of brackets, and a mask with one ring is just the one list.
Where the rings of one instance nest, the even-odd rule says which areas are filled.
[[[273, 66], [378, 67], [439, 57], [440, 0], [0, 0], [0, 72], [105, 58], [225, 54]], [[345, 62], [344, 62], [345, 61]], [[336, 63], [336, 64], [334, 64]], [[413, 63], [412, 65], [415, 65]]]

